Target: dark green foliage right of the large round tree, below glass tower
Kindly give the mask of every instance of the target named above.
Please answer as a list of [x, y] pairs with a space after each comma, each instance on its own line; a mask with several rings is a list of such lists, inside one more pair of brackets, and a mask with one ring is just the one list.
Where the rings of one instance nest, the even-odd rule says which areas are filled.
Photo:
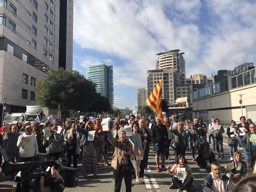
[[89, 111], [103, 113], [111, 110], [111, 106], [109, 101], [106, 97], [102, 96], [101, 93], [97, 93], [95, 95], [97, 102], [94, 103], [90, 108]]

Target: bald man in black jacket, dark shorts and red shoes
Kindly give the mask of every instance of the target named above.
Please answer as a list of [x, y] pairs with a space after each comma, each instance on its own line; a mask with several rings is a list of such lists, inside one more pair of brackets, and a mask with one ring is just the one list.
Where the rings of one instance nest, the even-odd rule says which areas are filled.
[[152, 131], [152, 143], [155, 144], [155, 163], [157, 164], [157, 172], [160, 172], [159, 168], [159, 156], [161, 153], [161, 160], [162, 160], [162, 166], [161, 168], [163, 171], [167, 171], [167, 169], [164, 166], [165, 162], [165, 153], [166, 153], [166, 144], [168, 140], [168, 132], [165, 125], [162, 124], [161, 120], [158, 117], [155, 117], [155, 124], [151, 131]]

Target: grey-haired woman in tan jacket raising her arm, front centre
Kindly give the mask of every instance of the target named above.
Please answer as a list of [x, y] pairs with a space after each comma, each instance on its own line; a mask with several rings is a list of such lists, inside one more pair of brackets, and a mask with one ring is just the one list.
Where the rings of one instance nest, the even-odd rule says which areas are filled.
[[[111, 166], [114, 168], [115, 177], [115, 189], [114, 192], [121, 191], [122, 179], [125, 181], [126, 192], [132, 191], [132, 172], [134, 169], [131, 168], [130, 158], [134, 159], [135, 154], [133, 151], [132, 143], [129, 142], [126, 136], [126, 130], [119, 129], [118, 136], [119, 140], [115, 139], [110, 131], [108, 130], [108, 138], [115, 147], [115, 152], [112, 158]], [[121, 154], [121, 155], [119, 155]]]

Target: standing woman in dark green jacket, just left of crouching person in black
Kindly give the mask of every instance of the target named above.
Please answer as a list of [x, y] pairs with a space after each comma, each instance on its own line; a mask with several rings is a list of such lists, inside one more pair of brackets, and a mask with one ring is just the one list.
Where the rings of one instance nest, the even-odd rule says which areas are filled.
[[191, 149], [192, 153], [192, 161], [195, 161], [195, 148], [197, 152], [199, 151], [199, 138], [202, 134], [202, 132], [198, 129], [194, 129], [195, 125], [194, 123], [190, 123], [187, 130], [187, 136], [188, 136], [188, 144]]

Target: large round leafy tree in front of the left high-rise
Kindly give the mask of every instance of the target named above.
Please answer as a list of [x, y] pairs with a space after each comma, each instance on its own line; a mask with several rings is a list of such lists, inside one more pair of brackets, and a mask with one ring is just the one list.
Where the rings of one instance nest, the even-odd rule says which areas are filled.
[[34, 88], [37, 105], [42, 107], [87, 111], [96, 102], [96, 84], [78, 71], [50, 69]]

